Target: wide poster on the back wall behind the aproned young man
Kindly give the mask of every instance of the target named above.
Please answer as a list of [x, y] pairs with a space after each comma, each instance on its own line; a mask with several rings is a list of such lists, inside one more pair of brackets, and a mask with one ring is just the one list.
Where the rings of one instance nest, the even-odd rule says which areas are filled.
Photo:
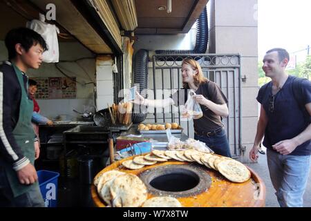
[[75, 77], [33, 77], [37, 81], [36, 99], [75, 99], [77, 84]]

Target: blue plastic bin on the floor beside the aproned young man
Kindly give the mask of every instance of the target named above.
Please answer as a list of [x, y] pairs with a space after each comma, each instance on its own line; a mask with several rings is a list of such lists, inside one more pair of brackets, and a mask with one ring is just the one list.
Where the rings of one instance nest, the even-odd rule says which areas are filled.
[[59, 173], [53, 171], [37, 171], [39, 186], [46, 207], [57, 206], [57, 181]]

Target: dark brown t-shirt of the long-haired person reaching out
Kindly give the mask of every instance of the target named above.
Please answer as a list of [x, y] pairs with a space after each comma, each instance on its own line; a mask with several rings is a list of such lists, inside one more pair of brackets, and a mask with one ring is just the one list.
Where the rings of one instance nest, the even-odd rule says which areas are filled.
[[[200, 84], [198, 90], [196, 90], [197, 95], [203, 95], [206, 99], [209, 99], [215, 104], [226, 104], [227, 98], [220, 90], [219, 86], [213, 82], [207, 80], [205, 83]], [[185, 105], [187, 101], [187, 89], [181, 89], [174, 93], [171, 98], [173, 99], [175, 105]], [[178, 99], [178, 97], [180, 99]], [[184, 99], [185, 97], [185, 99]], [[221, 122], [221, 117], [216, 115], [213, 111], [209, 110], [206, 106], [200, 105], [203, 117], [200, 119], [194, 119], [194, 131], [198, 133], [215, 131], [220, 127], [223, 127], [223, 122]]]

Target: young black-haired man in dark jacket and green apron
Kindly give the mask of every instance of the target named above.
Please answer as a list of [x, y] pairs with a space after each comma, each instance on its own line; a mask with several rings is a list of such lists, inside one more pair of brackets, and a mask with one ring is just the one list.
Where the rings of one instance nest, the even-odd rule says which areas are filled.
[[[34, 30], [16, 28], [5, 39], [9, 61], [0, 66], [0, 206], [44, 206], [31, 124], [28, 68], [39, 68], [46, 41]], [[37, 146], [37, 148], [35, 148]]]

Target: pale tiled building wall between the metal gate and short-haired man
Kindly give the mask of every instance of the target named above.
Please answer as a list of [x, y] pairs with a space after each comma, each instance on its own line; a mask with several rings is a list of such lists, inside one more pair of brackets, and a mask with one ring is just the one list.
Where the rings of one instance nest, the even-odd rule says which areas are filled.
[[242, 146], [241, 161], [249, 162], [258, 120], [257, 0], [210, 0], [208, 53], [241, 55]]

